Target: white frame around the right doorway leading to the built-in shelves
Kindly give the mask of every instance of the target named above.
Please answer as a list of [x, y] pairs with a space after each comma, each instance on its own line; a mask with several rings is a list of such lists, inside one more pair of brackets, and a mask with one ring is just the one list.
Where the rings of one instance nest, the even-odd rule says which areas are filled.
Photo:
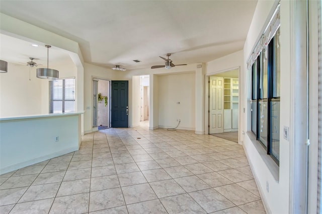
[[[238, 84], [239, 84], [239, 89], [240, 89], [240, 66], [236, 66], [236, 67], [231, 67], [228, 69], [224, 69], [224, 70], [219, 70], [217, 72], [213, 72], [210, 74], [206, 74], [206, 78], [205, 78], [205, 134], [209, 134], [209, 77], [210, 76], [216, 76], [220, 73], [224, 73], [224, 72], [229, 72], [230, 70], [237, 70], [238, 69]], [[240, 141], [240, 90], [238, 90], [238, 143]]]

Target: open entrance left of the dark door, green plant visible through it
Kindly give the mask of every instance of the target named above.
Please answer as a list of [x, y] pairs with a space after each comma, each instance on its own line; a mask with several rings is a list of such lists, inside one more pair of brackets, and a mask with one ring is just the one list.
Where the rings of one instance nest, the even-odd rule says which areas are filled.
[[111, 82], [93, 79], [93, 128], [103, 130], [111, 127], [110, 91]]

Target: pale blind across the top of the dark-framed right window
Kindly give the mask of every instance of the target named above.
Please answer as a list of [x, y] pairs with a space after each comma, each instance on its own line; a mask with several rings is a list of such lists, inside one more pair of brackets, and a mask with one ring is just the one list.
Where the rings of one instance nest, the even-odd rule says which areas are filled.
[[263, 49], [267, 47], [271, 39], [275, 36], [277, 29], [280, 27], [280, 24], [280, 4], [278, 4], [263, 34], [261, 35], [259, 41], [256, 43], [252, 54], [247, 60], [247, 69], [251, 69], [253, 63], [257, 59], [257, 56], [262, 52]]

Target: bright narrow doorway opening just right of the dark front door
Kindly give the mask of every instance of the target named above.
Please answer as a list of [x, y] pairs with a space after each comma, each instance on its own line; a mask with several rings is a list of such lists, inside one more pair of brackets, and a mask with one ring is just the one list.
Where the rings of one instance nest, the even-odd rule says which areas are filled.
[[150, 101], [149, 76], [140, 76], [140, 125], [149, 125], [149, 101]]

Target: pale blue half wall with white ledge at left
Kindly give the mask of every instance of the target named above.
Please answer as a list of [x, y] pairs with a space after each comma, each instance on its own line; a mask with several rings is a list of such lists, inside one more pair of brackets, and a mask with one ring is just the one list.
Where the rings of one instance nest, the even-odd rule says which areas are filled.
[[[0, 174], [78, 150], [79, 114], [0, 121]], [[19, 134], [13, 134], [13, 130]], [[55, 141], [55, 137], [59, 141]]]

